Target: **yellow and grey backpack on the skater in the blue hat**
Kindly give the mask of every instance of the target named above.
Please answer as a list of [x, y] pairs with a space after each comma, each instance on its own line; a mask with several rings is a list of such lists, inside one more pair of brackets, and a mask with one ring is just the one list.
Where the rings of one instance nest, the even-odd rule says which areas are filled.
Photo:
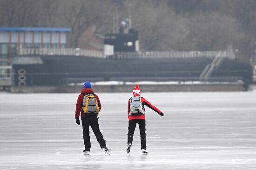
[[98, 105], [98, 101], [95, 98], [94, 94], [88, 93], [84, 95], [83, 106], [84, 113], [99, 113], [100, 107]]

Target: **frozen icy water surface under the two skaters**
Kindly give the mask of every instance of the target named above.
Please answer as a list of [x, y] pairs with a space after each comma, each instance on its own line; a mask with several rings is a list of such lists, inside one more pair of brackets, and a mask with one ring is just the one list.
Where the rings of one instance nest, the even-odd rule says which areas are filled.
[[0, 170], [256, 170], [256, 92], [143, 93], [148, 155], [138, 126], [126, 153], [131, 93], [98, 94], [100, 129], [84, 156], [78, 94], [0, 94]]

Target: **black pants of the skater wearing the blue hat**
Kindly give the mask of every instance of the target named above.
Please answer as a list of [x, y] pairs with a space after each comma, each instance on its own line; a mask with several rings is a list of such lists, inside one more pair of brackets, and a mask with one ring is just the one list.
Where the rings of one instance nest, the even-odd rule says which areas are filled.
[[86, 117], [83, 117], [81, 120], [82, 120], [82, 125], [83, 125], [83, 139], [84, 139], [85, 149], [87, 151], [90, 151], [90, 148], [91, 148], [89, 126], [91, 126], [101, 148], [103, 146], [106, 146], [106, 141], [103, 139], [102, 133], [99, 128], [97, 115], [86, 116]]

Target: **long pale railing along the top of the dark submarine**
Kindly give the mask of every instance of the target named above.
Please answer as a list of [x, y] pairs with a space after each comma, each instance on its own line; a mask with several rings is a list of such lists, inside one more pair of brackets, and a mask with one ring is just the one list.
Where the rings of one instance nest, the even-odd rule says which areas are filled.
[[[86, 57], [106, 57], [115, 59], [132, 58], [191, 58], [191, 57], [216, 57], [219, 51], [136, 51], [115, 52], [114, 55], [104, 56], [103, 51], [72, 49], [72, 48], [17, 48], [17, 55], [69, 55]], [[223, 52], [223, 51], [222, 51]], [[233, 52], [226, 52], [223, 57], [235, 58]]]

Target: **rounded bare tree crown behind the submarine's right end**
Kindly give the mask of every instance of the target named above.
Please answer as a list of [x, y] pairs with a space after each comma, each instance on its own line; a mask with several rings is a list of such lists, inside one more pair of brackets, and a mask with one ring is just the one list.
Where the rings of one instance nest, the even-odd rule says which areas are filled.
[[185, 45], [191, 50], [225, 50], [245, 37], [236, 19], [218, 13], [192, 16], [188, 28], [190, 33]]

